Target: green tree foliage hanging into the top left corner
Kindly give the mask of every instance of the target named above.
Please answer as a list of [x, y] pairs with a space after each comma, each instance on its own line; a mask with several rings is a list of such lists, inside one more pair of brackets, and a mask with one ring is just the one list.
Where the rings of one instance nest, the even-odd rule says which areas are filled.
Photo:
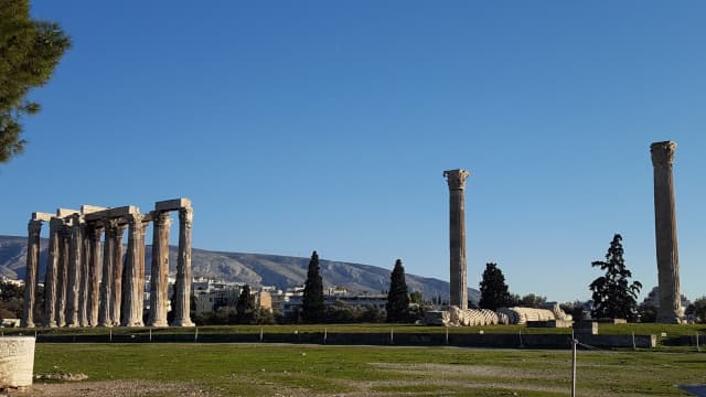
[[26, 95], [49, 82], [69, 46], [57, 23], [30, 18], [29, 0], [0, 0], [0, 163], [24, 149], [20, 119], [40, 110]]

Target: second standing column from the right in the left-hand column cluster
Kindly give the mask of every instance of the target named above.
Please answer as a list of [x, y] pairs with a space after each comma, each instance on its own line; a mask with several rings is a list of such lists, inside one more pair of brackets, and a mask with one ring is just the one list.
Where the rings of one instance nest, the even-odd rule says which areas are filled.
[[167, 326], [168, 272], [169, 272], [169, 227], [168, 212], [154, 212], [152, 235], [152, 267], [150, 275], [149, 326]]

